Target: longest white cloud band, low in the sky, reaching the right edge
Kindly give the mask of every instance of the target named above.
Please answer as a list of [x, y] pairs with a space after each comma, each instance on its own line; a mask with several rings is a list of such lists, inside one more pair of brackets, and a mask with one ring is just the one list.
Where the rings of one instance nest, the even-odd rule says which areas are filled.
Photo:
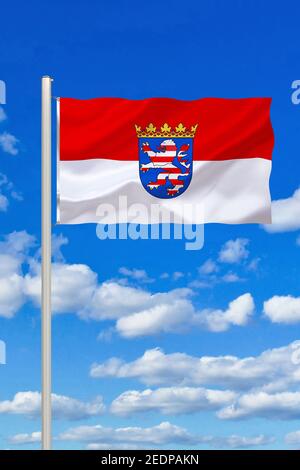
[[229, 355], [195, 357], [178, 352], [165, 354], [156, 348], [147, 350], [132, 362], [113, 357], [103, 363], [94, 363], [90, 375], [94, 378], [134, 378], [146, 385], [284, 390], [300, 384], [300, 341], [245, 358]]

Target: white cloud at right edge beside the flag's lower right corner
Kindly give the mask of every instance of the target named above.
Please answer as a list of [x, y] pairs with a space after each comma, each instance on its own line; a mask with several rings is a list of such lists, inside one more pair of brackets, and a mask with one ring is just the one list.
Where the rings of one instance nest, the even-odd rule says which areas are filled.
[[272, 224], [263, 225], [266, 232], [292, 232], [300, 229], [300, 188], [291, 197], [272, 202]]

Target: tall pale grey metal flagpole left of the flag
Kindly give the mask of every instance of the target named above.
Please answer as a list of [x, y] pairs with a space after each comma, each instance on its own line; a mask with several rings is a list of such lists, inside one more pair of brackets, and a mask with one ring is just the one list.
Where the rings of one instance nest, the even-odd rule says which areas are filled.
[[42, 449], [51, 450], [51, 82], [42, 78]]

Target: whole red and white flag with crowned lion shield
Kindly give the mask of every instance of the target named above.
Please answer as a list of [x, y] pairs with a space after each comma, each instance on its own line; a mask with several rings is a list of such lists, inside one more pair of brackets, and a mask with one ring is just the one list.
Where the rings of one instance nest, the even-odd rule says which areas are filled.
[[[57, 221], [118, 222], [154, 204], [186, 223], [270, 223], [271, 99], [58, 101]], [[187, 215], [188, 214], [188, 215]], [[114, 223], [112, 216], [106, 223]]]

